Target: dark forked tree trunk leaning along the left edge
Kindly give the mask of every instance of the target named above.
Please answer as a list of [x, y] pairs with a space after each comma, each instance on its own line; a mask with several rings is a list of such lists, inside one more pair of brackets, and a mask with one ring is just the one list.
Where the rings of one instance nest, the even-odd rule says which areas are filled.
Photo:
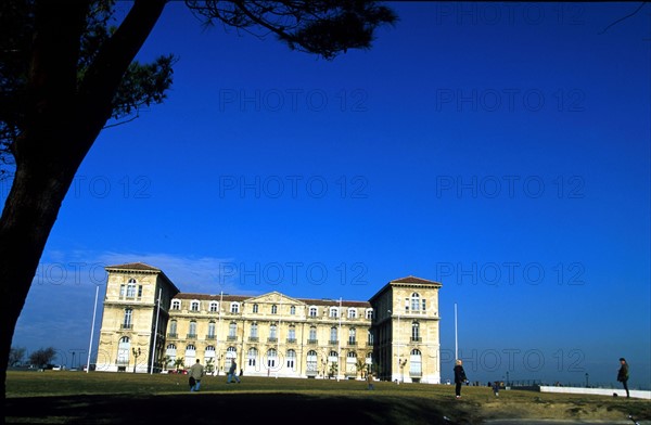
[[61, 204], [165, 2], [136, 0], [81, 83], [77, 65], [90, 0], [35, 3], [26, 125], [11, 146], [16, 173], [0, 218], [2, 405], [15, 325]]

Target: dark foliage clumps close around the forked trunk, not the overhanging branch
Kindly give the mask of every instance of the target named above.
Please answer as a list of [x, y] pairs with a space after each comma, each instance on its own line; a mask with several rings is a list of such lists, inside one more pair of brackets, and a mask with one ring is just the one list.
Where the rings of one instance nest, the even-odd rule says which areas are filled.
[[[28, 116], [29, 73], [33, 57], [31, 39], [35, 30], [36, 0], [0, 3], [0, 178], [14, 164], [12, 145], [25, 130]], [[114, 36], [115, 0], [89, 2], [81, 31], [77, 61], [77, 90], [81, 90], [89, 69], [102, 48]], [[171, 54], [162, 55], [150, 64], [131, 62], [112, 100], [111, 118], [115, 120], [138, 116], [143, 106], [162, 103], [173, 79]]]

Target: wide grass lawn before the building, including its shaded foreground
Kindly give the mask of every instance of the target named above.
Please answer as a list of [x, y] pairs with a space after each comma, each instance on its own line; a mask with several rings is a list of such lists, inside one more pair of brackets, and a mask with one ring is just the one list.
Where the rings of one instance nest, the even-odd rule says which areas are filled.
[[488, 418], [651, 420], [648, 400], [449, 385], [108, 372], [8, 372], [5, 423], [478, 424]]

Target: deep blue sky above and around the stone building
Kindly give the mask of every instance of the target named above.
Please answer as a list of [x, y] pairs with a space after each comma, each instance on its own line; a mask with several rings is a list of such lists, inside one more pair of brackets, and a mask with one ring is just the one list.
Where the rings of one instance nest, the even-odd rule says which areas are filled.
[[457, 304], [473, 381], [616, 384], [624, 356], [649, 388], [651, 9], [392, 7], [328, 62], [171, 2], [139, 56], [178, 55], [168, 99], [95, 142], [13, 345], [85, 358], [114, 263], [361, 300], [413, 274], [443, 283], [444, 379]]

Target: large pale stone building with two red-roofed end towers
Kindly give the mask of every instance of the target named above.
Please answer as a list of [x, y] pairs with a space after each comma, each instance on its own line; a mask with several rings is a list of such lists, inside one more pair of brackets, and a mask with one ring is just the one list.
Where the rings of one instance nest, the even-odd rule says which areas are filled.
[[[161, 372], [199, 359], [224, 374], [438, 384], [441, 284], [408, 276], [368, 301], [187, 294], [154, 267], [107, 267], [97, 370]], [[153, 353], [153, 356], [152, 356]]]

